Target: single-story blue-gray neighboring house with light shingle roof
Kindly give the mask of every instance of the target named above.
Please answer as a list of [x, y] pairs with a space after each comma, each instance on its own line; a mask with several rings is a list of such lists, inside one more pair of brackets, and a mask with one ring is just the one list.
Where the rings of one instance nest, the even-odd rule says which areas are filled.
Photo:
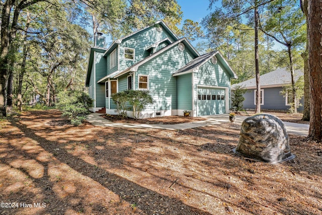
[[[295, 81], [303, 76], [303, 70], [297, 69], [294, 71]], [[261, 109], [263, 110], [288, 110], [292, 100], [291, 93], [284, 96], [281, 91], [283, 88], [291, 84], [291, 73], [286, 68], [279, 68], [270, 73], [264, 74], [260, 77], [261, 83]], [[231, 86], [233, 90], [236, 86], [241, 86], [247, 89], [244, 94], [245, 101], [243, 103], [244, 109], [256, 108], [256, 79], [250, 79], [245, 82], [234, 84]], [[303, 111], [303, 98], [299, 100], [301, 104], [297, 110]]]

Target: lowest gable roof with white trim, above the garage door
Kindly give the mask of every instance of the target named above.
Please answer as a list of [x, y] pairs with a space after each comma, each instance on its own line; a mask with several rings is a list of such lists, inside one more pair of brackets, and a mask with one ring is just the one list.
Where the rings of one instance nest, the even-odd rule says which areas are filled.
[[209, 53], [206, 53], [206, 54], [203, 54], [199, 57], [194, 58], [187, 65], [178, 69], [176, 71], [176, 73], [173, 74], [173, 76], [180, 76], [183, 74], [192, 73], [193, 71], [198, 70], [203, 64], [205, 64], [213, 56], [216, 56], [219, 61], [224, 62], [223, 67], [225, 67], [225, 69], [227, 71], [229, 71], [229, 73], [232, 75], [233, 78], [235, 78], [235, 79], [237, 78], [236, 73], [232, 70], [231, 66], [225, 60], [225, 58], [222, 56], [220, 51], [212, 51], [212, 52], [209, 52]]

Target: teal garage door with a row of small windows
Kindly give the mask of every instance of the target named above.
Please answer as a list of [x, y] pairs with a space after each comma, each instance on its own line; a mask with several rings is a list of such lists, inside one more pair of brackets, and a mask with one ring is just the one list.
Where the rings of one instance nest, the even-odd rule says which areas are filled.
[[198, 88], [197, 114], [207, 116], [225, 113], [225, 89]]

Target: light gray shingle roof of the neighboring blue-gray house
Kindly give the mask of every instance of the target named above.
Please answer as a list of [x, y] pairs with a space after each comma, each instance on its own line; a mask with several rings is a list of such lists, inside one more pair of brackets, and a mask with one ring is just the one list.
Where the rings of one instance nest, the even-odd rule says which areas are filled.
[[[294, 71], [295, 81], [299, 79], [299, 77], [303, 76], [302, 69], [296, 69]], [[283, 87], [288, 84], [291, 84], [291, 73], [287, 68], [278, 68], [270, 73], [266, 73], [260, 76], [260, 84], [261, 88], [269, 88], [269, 87]], [[234, 88], [236, 86], [241, 86], [246, 89], [255, 89], [256, 88], [256, 79], [250, 79], [245, 82], [240, 82], [238, 84], [234, 84], [231, 87]]]

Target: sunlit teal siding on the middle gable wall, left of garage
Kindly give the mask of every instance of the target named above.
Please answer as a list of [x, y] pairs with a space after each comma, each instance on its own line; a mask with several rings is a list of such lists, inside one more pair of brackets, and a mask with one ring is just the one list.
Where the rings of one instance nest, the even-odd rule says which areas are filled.
[[138, 89], [138, 76], [148, 75], [149, 91], [155, 100], [146, 110], [177, 109], [177, 77], [172, 74], [192, 59], [191, 53], [179, 51], [175, 46], [139, 67], [135, 73], [135, 88]]

